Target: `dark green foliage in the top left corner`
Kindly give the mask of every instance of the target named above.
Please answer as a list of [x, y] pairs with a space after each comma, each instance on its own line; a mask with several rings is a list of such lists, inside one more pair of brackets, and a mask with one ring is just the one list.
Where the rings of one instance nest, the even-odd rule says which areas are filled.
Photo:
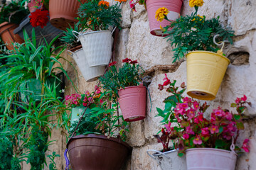
[[29, 13], [28, 9], [26, 9], [23, 5], [23, 1], [11, 0], [10, 4], [4, 4], [1, 6], [0, 23], [21, 23], [21, 20], [28, 16]]

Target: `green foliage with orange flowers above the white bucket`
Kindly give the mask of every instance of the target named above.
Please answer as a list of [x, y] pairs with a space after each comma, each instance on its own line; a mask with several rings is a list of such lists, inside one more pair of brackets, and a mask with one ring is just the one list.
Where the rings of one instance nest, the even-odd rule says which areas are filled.
[[99, 5], [100, 0], [88, 0], [78, 9], [78, 23], [82, 29], [108, 30], [110, 26], [120, 27], [120, 4], [112, 6]]

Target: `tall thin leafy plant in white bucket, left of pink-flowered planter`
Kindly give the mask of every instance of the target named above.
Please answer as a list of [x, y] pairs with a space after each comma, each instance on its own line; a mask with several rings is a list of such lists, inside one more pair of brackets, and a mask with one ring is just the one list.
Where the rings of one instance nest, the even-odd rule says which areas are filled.
[[[164, 86], [166, 86], [164, 88]], [[164, 128], [161, 129], [162, 135], [154, 135], [158, 142], [161, 142], [163, 145], [163, 149], [158, 151], [154, 149], [147, 150], [147, 154], [159, 164], [162, 170], [169, 169], [172, 167], [173, 169], [186, 170], [186, 158], [178, 157], [178, 149], [175, 147], [175, 143], [172, 142], [176, 139], [176, 136], [171, 136], [169, 130], [171, 123], [175, 124], [176, 120], [174, 120], [174, 108], [176, 107], [176, 103], [181, 102], [182, 94], [184, 93], [185, 84], [182, 83], [180, 87], [176, 86], [176, 80], [171, 82], [167, 75], [165, 74], [164, 84], [159, 84], [159, 90], [162, 91], [166, 89], [171, 95], [167, 96], [164, 99], [164, 110], [161, 108], [156, 108], [158, 112], [157, 117], [161, 117], [161, 125], [164, 125]], [[171, 146], [170, 146], [171, 145]], [[153, 154], [151, 154], [153, 152]]]

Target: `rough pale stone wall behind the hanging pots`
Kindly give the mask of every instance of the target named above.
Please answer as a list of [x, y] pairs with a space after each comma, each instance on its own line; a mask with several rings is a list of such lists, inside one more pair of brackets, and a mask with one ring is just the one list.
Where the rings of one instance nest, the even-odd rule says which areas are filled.
[[[255, 0], [204, 0], [205, 3], [199, 8], [198, 13], [205, 15], [206, 18], [220, 16], [225, 26], [231, 26], [235, 30], [233, 45], [225, 46], [225, 53], [231, 60], [223, 82], [220, 86], [215, 100], [208, 102], [210, 106], [223, 106], [228, 108], [230, 103], [237, 96], [245, 94], [248, 101], [251, 101], [252, 107], [247, 110], [248, 119], [244, 132], [241, 132], [238, 143], [241, 144], [245, 137], [250, 138], [250, 153], [241, 154], [238, 157], [238, 170], [256, 169], [256, 1]], [[188, 6], [188, 0], [183, 1], [181, 15], [190, 14], [193, 11]], [[116, 43], [115, 60], [121, 65], [122, 59], [129, 57], [137, 60], [139, 64], [151, 75], [151, 84], [149, 91], [151, 94], [151, 111], [149, 96], [147, 98], [146, 118], [139, 122], [129, 123], [129, 139], [127, 142], [133, 147], [132, 156], [127, 160], [124, 170], [159, 170], [158, 164], [146, 154], [147, 149], [161, 149], [153, 135], [161, 129], [159, 127], [159, 118], [156, 118], [156, 106], [164, 108], [162, 101], [168, 94], [165, 91], [159, 91], [158, 84], [163, 83], [164, 73], [169, 79], [177, 80], [177, 84], [186, 82], [186, 61], [172, 64], [172, 47], [169, 42], [163, 38], [153, 36], [149, 33], [149, 22], [144, 6], [137, 6], [137, 12], [131, 11], [129, 1], [122, 6], [122, 30], [119, 32], [119, 38]], [[65, 54], [67, 60], [74, 65], [75, 62]], [[68, 71], [70, 77], [78, 86], [81, 92], [86, 90], [92, 91], [96, 81], [87, 83], [79, 72], [75, 76], [73, 67], [67, 62], [63, 62], [64, 69]], [[66, 85], [65, 93], [73, 94], [75, 91], [70, 82]], [[208, 108], [211, 110], [211, 108]], [[59, 133], [60, 132], [56, 132]], [[55, 135], [55, 132], [53, 133]], [[52, 145], [53, 151], [63, 154], [65, 149], [65, 140], [60, 142], [59, 135], [58, 145]], [[63, 150], [62, 150], [63, 149]], [[100, 163], [100, 160], [99, 160]], [[63, 169], [65, 159], [63, 156], [58, 158], [58, 169]]]

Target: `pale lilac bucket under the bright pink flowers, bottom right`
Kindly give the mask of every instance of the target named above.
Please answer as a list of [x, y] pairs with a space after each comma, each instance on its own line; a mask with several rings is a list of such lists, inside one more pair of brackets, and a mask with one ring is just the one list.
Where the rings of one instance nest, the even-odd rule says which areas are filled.
[[188, 170], [235, 170], [237, 155], [233, 151], [214, 148], [186, 150]]

